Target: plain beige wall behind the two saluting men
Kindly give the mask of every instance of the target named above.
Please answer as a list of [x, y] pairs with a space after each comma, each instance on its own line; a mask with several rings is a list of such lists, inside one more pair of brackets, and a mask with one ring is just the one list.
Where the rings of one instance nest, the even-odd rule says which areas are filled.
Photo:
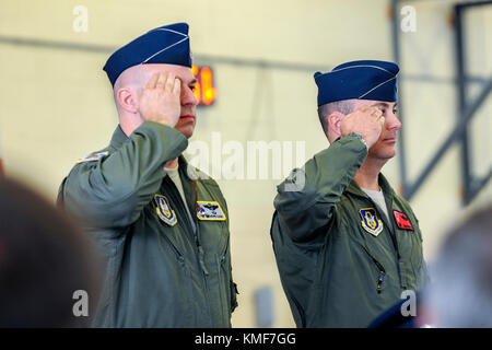
[[[402, 34], [405, 74], [454, 77], [449, 1], [412, 2], [415, 33]], [[89, 31], [72, 30], [72, 9], [89, 10]], [[328, 70], [354, 59], [391, 59], [386, 0], [349, 1], [19, 1], [0, 4], [0, 35], [71, 44], [118, 47], [145, 31], [171, 22], [190, 24], [194, 55], [302, 62]], [[490, 7], [489, 7], [490, 8]], [[470, 67], [491, 73], [491, 11], [472, 13], [468, 33]], [[480, 54], [480, 55], [479, 55]], [[55, 199], [73, 163], [107, 144], [117, 124], [110, 85], [102, 71], [108, 52], [33, 48], [0, 43], [0, 140], [7, 172]], [[260, 70], [212, 61], [219, 100], [199, 110], [194, 140], [305, 141], [306, 156], [327, 147], [316, 115], [313, 71]], [[409, 172], [414, 179], [456, 121], [456, 92], [449, 83], [402, 85]], [[477, 172], [490, 167], [491, 98], [472, 125]], [[460, 205], [459, 153], [448, 153], [412, 200], [432, 259], [452, 223], [492, 197], [492, 186], [473, 206]], [[395, 187], [398, 163], [385, 174]], [[254, 327], [254, 291], [270, 285], [276, 327], [293, 326], [274, 262], [269, 228], [277, 179], [220, 180], [229, 201], [235, 279], [241, 307], [233, 325]]]

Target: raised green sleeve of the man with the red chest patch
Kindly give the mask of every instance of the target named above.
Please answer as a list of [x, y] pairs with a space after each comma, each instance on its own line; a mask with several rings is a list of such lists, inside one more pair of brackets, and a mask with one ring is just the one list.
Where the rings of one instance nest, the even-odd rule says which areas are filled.
[[[367, 155], [356, 137], [344, 137], [295, 170], [278, 186], [274, 208], [295, 242], [305, 242], [329, 224], [336, 205]], [[298, 186], [292, 186], [294, 180]]]

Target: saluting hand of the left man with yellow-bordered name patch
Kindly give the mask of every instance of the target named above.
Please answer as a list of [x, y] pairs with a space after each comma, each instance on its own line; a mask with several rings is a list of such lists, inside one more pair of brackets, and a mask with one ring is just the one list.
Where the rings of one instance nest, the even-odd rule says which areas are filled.
[[181, 113], [180, 93], [181, 82], [174, 73], [153, 74], [140, 96], [139, 112], [143, 120], [174, 128]]

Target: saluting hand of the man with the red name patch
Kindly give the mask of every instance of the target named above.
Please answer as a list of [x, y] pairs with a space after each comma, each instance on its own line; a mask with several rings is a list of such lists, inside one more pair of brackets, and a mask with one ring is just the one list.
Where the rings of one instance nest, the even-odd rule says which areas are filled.
[[342, 137], [349, 132], [362, 135], [367, 149], [379, 139], [385, 117], [377, 107], [363, 106], [344, 116], [340, 121], [340, 133]]

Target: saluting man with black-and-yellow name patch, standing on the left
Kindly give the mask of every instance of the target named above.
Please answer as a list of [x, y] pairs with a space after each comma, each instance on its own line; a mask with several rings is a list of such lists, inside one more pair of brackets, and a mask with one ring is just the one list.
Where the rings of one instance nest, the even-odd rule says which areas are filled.
[[188, 25], [154, 28], [104, 70], [119, 125], [63, 179], [106, 258], [95, 327], [231, 327], [236, 307], [227, 207], [181, 153], [196, 124]]

